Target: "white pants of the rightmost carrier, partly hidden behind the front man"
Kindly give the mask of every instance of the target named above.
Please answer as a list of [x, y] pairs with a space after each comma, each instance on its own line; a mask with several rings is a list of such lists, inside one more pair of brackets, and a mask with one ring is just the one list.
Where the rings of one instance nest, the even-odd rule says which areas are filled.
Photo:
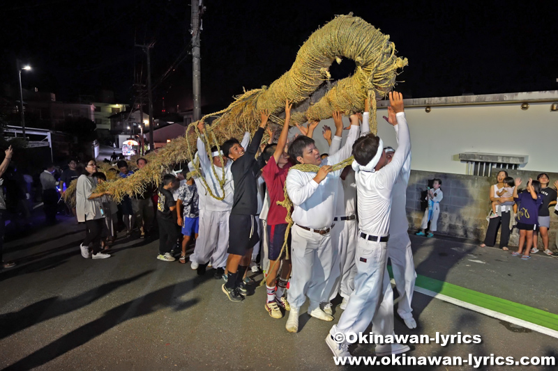
[[412, 318], [411, 303], [413, 301], [414, 281], [416, 272], [414, 271], [413, 251], [411, 250], [411, 240], [407, 231], [398, 232], [389, 236], [388, 255], [391, 259], [391, 269], [395, 286], [401, 298], [398, 303], [397, 313], [405, 318]]

